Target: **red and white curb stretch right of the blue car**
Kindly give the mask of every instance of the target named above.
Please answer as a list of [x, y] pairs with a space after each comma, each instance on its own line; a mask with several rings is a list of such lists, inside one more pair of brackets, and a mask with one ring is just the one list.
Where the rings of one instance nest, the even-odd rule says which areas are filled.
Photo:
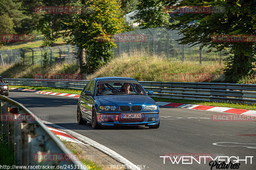
[[247, 115], [247, 116], [256, 116], [256, 110], [234, 109], [229, 107], [206, 106], [206, 105], [198, 105], [198, 104], [183, 104], [183, 103], [169, 103], [169, 102], [156, 102], [156, 103], [159, 106], [166, 106], [166, 107], [177, 107], [177, 108], [196, 109], [196, 110], [222, 112], [222, 113], [241, 114], [241, 115]]

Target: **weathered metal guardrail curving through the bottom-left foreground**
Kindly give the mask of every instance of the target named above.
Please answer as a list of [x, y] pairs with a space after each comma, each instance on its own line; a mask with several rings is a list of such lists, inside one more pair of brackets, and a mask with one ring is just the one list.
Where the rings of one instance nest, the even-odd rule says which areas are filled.
[[1, 95], [0, 100], [0, 125], [2, 127], [0, 133], [3, 136], [3, 142], [8, 143], [14, 149], [16, 166], [55, 166], [56, 168], [57, 166], [75, 167], [79, 165], [79, 169], [84, 169], [84, 164], [77, 160], [37, 159], [36, 156], [40, 158], [40, 154], [59, 155], [60, 157], [74, 154], [22, 104]]

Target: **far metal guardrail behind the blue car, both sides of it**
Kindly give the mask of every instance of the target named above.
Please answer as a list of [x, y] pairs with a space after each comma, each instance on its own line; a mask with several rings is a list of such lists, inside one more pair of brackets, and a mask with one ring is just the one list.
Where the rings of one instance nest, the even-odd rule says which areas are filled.
[[[83, 89], [89, 80], [4, 79], [15, 86], [47, 86]], [[152, 97], [201, 101], [256, 103], [256, 84], [140, 81]]]

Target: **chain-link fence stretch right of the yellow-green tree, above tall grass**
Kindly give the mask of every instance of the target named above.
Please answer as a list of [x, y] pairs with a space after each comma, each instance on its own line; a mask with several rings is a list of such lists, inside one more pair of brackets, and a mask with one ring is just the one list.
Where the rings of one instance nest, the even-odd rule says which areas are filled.
[[[116, 47], [114, 54], [120, 56], [122, 53], [132, 53], [135, 51], [143, 51], [157, 56], [163, 56], [171, 60], [189, 61], [193, 64], [209, 65], [210, 63], [222, 63], [223, 56], [221, 51], [207, 52], [209, 49], [204, 47], [200, 50], [200, 45], [190, 47], [188, 44], [180, 45], [176, 40], [182, 38], [176, 30], [167, 30], [166, 28], [147, 28], [133, 30], [119, 34], [125, 36], [143, 35], [146, 37], [141, 41], [134, 41], [130, 38], [128, 41], [115, 42]], [[135, 52], [136, 53], [136, 52]]]

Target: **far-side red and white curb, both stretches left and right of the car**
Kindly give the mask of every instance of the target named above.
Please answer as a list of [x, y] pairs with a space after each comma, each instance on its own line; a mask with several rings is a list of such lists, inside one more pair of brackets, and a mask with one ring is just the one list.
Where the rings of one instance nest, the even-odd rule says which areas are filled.
[[[14, 90], [17, 88], [11, 88]], [[68, 94], [68, 93], [53, 93], [47, 91], [38, 91], [32, 89], [17, 89], [21, 91], [29, 91], [35, 92], [38, 94], [44, 95], [55, 95], [55, 96], [66, 96], [66, 97], [76, 97], [78, 98], [80, 95], [76, 94]], [[256, 110], [246, 110], [246, 109], [235, 109], [229, 107], [217, 107], [217, 106], [206, 106], [206, 105], [199, 105], [199, 104], [183, 104], [183, 103], [169, 103], [169, 102], [156, 102], [159, 106], [166, 106], [166, 107], [178, 107], [178, 108], [185, 108], [185, 109], [196, 109], [196, 110], [204, 110], [204, 111], [212, 111], [212, 112], [222, 112], [222, 113], [230, 113], [230, 114], [241, 114], [247, 116], [256, 116]]]

